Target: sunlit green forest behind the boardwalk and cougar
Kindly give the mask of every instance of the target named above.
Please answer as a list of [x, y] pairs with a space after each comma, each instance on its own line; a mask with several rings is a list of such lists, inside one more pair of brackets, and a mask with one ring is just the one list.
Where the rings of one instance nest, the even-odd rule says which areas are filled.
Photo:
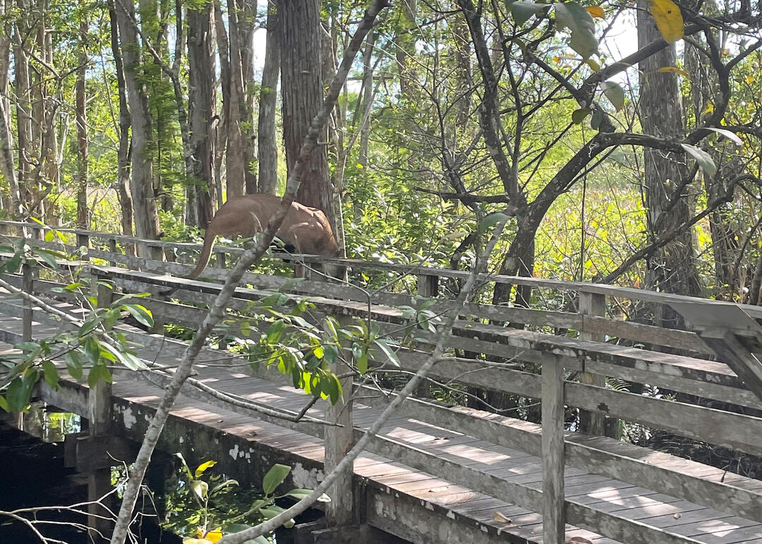
[[[762, 303], [760, 6], [670, 5], [394, 2], [297, 199], [351, 257], [466, 266], [479, 208], [492, 272]], [[283, 190], [363, 8], [4, 2], [0, 214], [197, 240]]]

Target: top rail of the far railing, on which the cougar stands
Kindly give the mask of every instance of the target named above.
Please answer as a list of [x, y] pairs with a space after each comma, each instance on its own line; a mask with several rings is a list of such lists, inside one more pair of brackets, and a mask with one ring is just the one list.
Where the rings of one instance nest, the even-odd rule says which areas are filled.
[[[37, 227], [43, 228], [39, 224], [30, 224], [20, 221], [0, 221], [0, 224], [8, 226], [25, 226], [25, 227]], [[126, 243], [146, 243], [149, 246], [154, 247], [174, 247], [177, 249], [200, 249], [200, 243], [191, 242], [167, 242], [163, 240], [146, 240], [138, 237], [125, 236], [123, 234], [104, 233], [98, 231], [87, 231], [78, 228], [69, 227], [50, 227], [56, 228], [57, 231], [83, 234], [91, 237], [109, 238]], [[233, 255], [243, 253], [241, 247], [232, 247], [226, 245], [215, 245], [215, 252], [226, 252]], [[300, 256], [306, 262], [328, 262], [332, 264], [338, 264], [341, 266], [353, 266], [357, 268], [387, 270], [389, 272], [399, 272], [405, 275], [433, 275], [440, 278], [460, 278], [465, 279], [468, 277], [469, 272], [462, 270], [452, 269], [440, 269], [433, 266], [418, 265], [404, 265], [404, 264], [392, 264], [387, 262], [375, 262], [375, 261], [363, 261], [360, 259], [336, 259], [334, 257], [325, 256]], [[712, 305], [728, 305], [732, 304], [744, 310], [754, 319], [762, 319], [762, 307], [752, 306], [751, 304], [735, 304], [727, 301], [715, 301], [708, 298], [701, 297], [688, 297], [680, 294], [661, 293], [658, 291], [648, 291], [641, 288], [623, 287], [620, 285], [604, 285], [588, 282], [569, 282], [559, 279], [549, 278], [530, 278], [527, 276], [514, 276], [514, 275], [498, 275], [498, 274], [481, 274], [479, 275], [480, 282], [495, 282], [501, 284], [511, 285], [527, 285], [536, 288], [549, 288], [558, 289], [561, 291], [577, 291], [578, 293], [588, 294], [601, 294], [608, 297], [619, 297], [632, 301], [642, 301], [655, 304], [671, 304], [680, 302], [691, 302], [696, 304]]]

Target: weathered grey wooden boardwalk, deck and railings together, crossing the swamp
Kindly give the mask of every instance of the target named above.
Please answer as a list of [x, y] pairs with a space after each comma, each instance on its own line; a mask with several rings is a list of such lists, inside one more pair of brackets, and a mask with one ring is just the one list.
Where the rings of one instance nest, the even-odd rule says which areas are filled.
[[[197, 244], [73, 233], [78, 246], [90, 247], [88, 259], [101, 259], [98, 262], [110, 266], [60, 261], [59, 270], [84, 269], [85, 274], [112, 282], [125, 293], [161, 293], [171, 288], [171, 300], [142, 299], [159, 323], [196, 329], [207, 311], [203, 306], [219, 293], [219, 284], [174, 277], [186, 275], [189, 266], [118, 250], [120, 244], [144, 243], [187, 255], [197, 251]], [[76, 250], [44, 239], [29, 241], [69, 254]], [[217, 247], [219, 266], [240, 252], [240, 248]], [[247, 274], [248, 287], [237, 289], [229, 302], [226, 332], [241, 336], [242, 324], [256, 319], [247, 313], [249, 305], [281, 291], [285, 297], [278, 304], [284, 311], [309, 297], [309, 319], [317, 325], [330, 315], [344, 323], [360, 318], [378, 327], [399, 342], [399, 370], [418, 371], [434, 333], [418, 327], [403, 307], [412, 310], [411, 304], [426, 301], [431, 312], [447, 312], [453, 302], [437, 293], [437, 285], [456, 284], [466, 272], [426, 267], [411, 271], [407, 266], [378, 262], [342, 264], [351, 266], [356, 275], [358, 269], [363, 275], [366, 271], [399, 278], [415, 274], [417, 288], [408, 281], [407, 293], [369, 292], [354, 285]], [[226, 271], [210, 268], [204, 276], [220, 280]], [[26, 279], [8, 275], [11, 285], [27, 282], [27, 291], [40, 297], [50, 297], [61, 281], [68, 282], [56, 280], [53, 271], [34, 282], [29, 275]], [[621, 419], [629, 428], [642, 425], [646, 431], [716, 446], [716, 452], [728, 452], [726, 458], [739, 471], [747, 459], [744, 456], [753, 456], [750, 465], [757, 466], [756, 459], [762, 457], [762, 308], [543, 278], [482, 275], [480, 281], [532, 288], [537, 303], [527, 308], [466, 304], [445, 339], [447, 356], [429, 377], [456, 390], [509, 394], [530, 405], [541, 399], [542, 425], [444, 405], [430, 398], [433, 387], [423, 388], [421, 398], [407, 399], [371, 441], [355, 463], [354, 480], [339, 486], [352, 488], [355, 498], [354, 505], [343, 510], [353, 509], [352, 521], [344, 523], [366, 524], [421, 544], [543, 542], [543, 538], [547, 544], [560, 544], [575, 536], [597, 543], [762, 544], [760, 479], [604, 436], [604, 424]], [[411, 300], [411, 293], [418, 298]], [[544, 307], [546, 300], [555, 301], [555, 309]], [[570, 302], [559, 307], [558, 301]], [[55, 304], [67, 307], [60, 301]], [[690, 328], [667, 329], [625, 319], [644, 305], [655, 312], [671, 308], [683, 315]], [[6, 316], [0, 321], [0, 340], [21, 339], [17, 318], [23, 314], [18, 301], [0, 301], [0, 315]], [[34, 325], [38, 338], [59, 326], [40, 312], [34, 313], [34, 319], [39, 321]], [[184, 352], [183, 342], [165, 336], [127, 326], [123, 333], [140, 346], [139, 355], [146, 361], [171, 366]], [[379, 361], [373, 363], [377, 366]], [[195, 368], [197, 379], [205, 385], [290, 414], [299, 412], [311, 398], [294, 390], [290, 377], [252, 371], [226, 351], [205, 349]], [[114, 418], [106, 433], [140, 440], [167, 375], [117, 371], [115, 379]], [[645, 384], [652, 392], [686, 393], [682, 398], [688, 400], [607, 387], [607, 379]], [[356, 440], [388, 406], [394, 393], [360, 383], [347, 383], [345, 390], [354, 390], [347, 427], [351, 432], [339, 439], [347, 444], [353, 432]], [[325, 425], [262, 415], [245, 406], [246, 402], [235, 406], [191, 384], [183, 392], [159, 447], [170, 453], [181, 451], [191, 462], [213, 458], [226, 474], [255, 483], [272, 463], [284, 463], [294, 467], [297, 487], [312, 487], [322, 478], [324, 456], [335, 464], [341, 455], [340, 447], [335, 447], [339, 434], [322, 440]], [[81, 384], [69, 381], [59, 391], [42, 386], [40, 396], [53, 406], [87, 413], [87, 389]], [[709, 402], [690, 400], [696, 398]], [[325, 409], [319, 401], [308, 415], [334, 421], [335, 415], [327, 415]], [[563, 431], [565, 415], [572, 409], [579, 410], [580, 425], [582, 416], [587, 418], [583, 428], [589, 434]], [[129, 453], [124, 457], [129, 459]], [[335, 496], [343, 498], [341, 492]], [[540, 513], [546, 514], [545, 527]], [[564, 520], [570, 524], [564, 527]]]

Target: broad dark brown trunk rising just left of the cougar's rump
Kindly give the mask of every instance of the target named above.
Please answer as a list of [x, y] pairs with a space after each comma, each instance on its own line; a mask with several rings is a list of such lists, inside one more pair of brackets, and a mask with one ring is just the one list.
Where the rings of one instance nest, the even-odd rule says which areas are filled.
[[[211, 2], [187, 12], [188, 110], [191, 116], [191, 151], [197, 226], [207, 227], [213, 215], [212, 119], [215, 108], [214, 51]], [[210, 191], [212, 193], [210, 193]]]

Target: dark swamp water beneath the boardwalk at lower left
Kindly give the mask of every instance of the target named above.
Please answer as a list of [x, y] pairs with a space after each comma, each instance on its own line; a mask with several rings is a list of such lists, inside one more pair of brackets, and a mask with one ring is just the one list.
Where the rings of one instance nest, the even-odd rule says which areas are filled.
[[[41, 407], [31, 410], [23, 418], [0, 415], [0, 511], [87, 501], [87, 476], [64, 466], [64, 436], [80, 430], [78, 416], [46, 412]], [[145, 515], [139, 525], [132, 528], [141, 544], [181, 544], [182, 536], [197, 536], [194, 527], [200, 517], [199, 509], [180, 476], [177, 461], [165, 453], [155, 455], [148, 477], [149, 486], [154, 490], [155, 507], [146, 502]], [[118, 476], [116, 467], [112, 473], [115, 481]], [[210, 488], [225, 479], [224, 475], [215, 475], [211, 470], [204, 477], [209, 479]], [[255, 489], [231, 488], [226, 495], [218, 497], [213, 516], [225, 523], [226, 519], [246, 511], [257, 494]], [[86, 507], [82, 509], [86, 510]], [[308, 511], [296, 522], [306, 523], [321, 516], [319, 511]], [[45, 511], [39, 517], [54, 522], [40, 527], [40, 532], [49, 539], [67, 544], [91, 542], [84, 529], [72, 527], [72, 523], [85, 526], [85, 515], [61, 510]], [[159, 519], [166, 529], [159, 527]], [[0, 544], [27, 542], [40, 540], [23, 523], [0, 515]], [[279, 530], [273, 542], [290, 544], [293, 538], [289, 530]]]

